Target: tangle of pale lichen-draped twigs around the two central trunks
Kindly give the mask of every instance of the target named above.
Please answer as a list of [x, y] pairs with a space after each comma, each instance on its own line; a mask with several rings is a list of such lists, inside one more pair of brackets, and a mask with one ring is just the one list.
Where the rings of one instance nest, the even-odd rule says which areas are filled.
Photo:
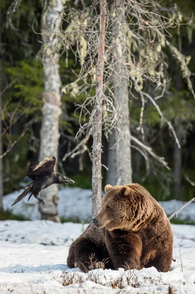
[[[97, 62], [99, 32], [101, 28], [98, 3], [94, 2], [94, 5], [89, 6], [84, 5], [83, 10], [81, 9], [79, 11], [72, 9], [70, 13], [71, 19], [70, 17], [68, 19], [69, 26], [65, 31], [65, 38], [69, 40], [67, 44], [75, 51], [75, 56], [79, 58], [82, 67], [80, 73], [76, 73], [75, 85], [65, 85], [63, 91], [67, 91], [72, 97], [82, 94], [83, 98], [85, 95], [86, 101], [83, 104], [81, 103], [78, 109], [81, 112], [83, 111], [84, 114], [87, 113], [89, 116], [92, 116], [90, 107], [94, 102], [94, 87], [97, 78], [94, 69]], [[108, 129], [116, 124], [114, 122], [116, 122], [118, 116], [117, 111], [120, 111], [115, 109], [115, 105], [113, 105], [113, 101], [116, 101], [113, 89], [115, 83], [117, 83], [116, 79], [113, 81], [113, 76], [116, 72], [116, 47], [118, 47], [119, 64], [126, 72], [124, 76], [127, 78], [129, 91], [131, 91], [132, 95], [135, 94], [135, 91], [139, 93], [138, 97], [142, 100], [141, 116], [143, 116], [146, 95], [151, 95], [153, 99], [154, 93], [156, 93], [157, 97], [159, 95], [159, 97], [163, 97], [166, 85], [170, 85], [168, 82], [170, 78], [167, 76], [168, 64], [166, 62], [166, 58], [169, 58], [167, 55], [168, 48], [171, 50], [175, 59], [178, 60], [182, 75], [187, 79], [189, 89], [193, 93], [192, 83], [190, 81], [191, 73], [188, 69], [190, 57], [181, 54], [169, 42], [172, 37], [171, 32], [173, 32], [169, 28], [173, 29], [184, 22], [184, 17], [181, 13], [177, 13], [176, 6], [174, 6], [174, 9], [164, 10], [164, 7], [161, 7], [160, 4], [153, 5], [153, 2], [151, 2], [151, 6], [148, 8], [147, 4], [145, 6], [143, 1], [142, 3], [140, 1], [121, 1], [120, 5], [115, 6], [113, 4], [108, 6], [108, 8], [109, 18], [106, 26], [103, 89], [104, 99], [106, 101], [103, 104], [103, 112], [106, 115], [108, 114], [107, 119], [104, 115], [107, 134]], [[119, 20], [120, 11], [125, 13], [123, 22]], [[120, 28], [117, 36], [112, 33], [113, 24], [115, 25], [115, 29], [117, 25]], [[189, 30], [190, 38], [192, 38], [192, 33]], [[118, 44], [120, 45], [117, 46]], [[127, 57], [126, 62], [121, 58], [123, 53]], [[120, 81], [120, 73], [118, 73], [118, 81]], [[145, 89], [149, 89], [149, 92]], [[152, 91], [152, 94], [150, 93], [151, 89], [155, 89], [155, 91]], [[145, 91], [147, 93], [143, 97]], [[154, 106], [156, 105], [154, 104]], [[91, 123], [90, 120], [89, 123]], [[84, 127], [86, 127], [86, 124]], [[81, 127], [81, 132], [83, 132], [83, 127]]]

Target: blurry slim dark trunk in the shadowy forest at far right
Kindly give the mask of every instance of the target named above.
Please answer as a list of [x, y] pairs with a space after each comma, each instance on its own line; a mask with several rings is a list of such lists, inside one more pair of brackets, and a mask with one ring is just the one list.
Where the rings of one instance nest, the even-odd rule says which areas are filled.
[[[181, 140], [181, 121], [179, 118], [175, 119], [174, 125], [175, 133], [180, 142]], [[174, 186], [173, 186], [173, 194], [178, 199], [181, 187], [181, 165], [182, 165], [182, 151], [181, 148], [178, 147], [177, 143], [174, 142], [174, 150], [173, 150], [173, 175], [174, 175]]]

